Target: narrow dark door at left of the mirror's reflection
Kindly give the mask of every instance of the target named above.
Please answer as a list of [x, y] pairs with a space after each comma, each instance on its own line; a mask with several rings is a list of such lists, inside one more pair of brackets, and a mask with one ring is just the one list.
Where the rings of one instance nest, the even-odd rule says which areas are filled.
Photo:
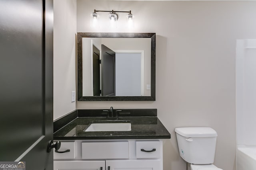
[[93, 57], [93, 96], [100, 96], [100, 50], [92, 47]]

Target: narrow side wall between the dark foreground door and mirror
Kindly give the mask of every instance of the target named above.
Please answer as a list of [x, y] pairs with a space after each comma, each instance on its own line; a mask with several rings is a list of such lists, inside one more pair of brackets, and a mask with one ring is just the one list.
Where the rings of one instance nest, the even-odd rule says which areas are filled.
[[76, 109], [76, 0], [54, 0], [53, 119]]

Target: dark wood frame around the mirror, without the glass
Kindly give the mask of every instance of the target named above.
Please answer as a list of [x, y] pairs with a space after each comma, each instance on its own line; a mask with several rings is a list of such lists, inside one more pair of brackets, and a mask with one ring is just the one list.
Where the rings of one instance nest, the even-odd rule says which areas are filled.
[[[151, 96], [82, 96], [82, 38], [151, 38]], [[77, 33], [78, 101], [155, 101], [156, 100], [156, 33]]]

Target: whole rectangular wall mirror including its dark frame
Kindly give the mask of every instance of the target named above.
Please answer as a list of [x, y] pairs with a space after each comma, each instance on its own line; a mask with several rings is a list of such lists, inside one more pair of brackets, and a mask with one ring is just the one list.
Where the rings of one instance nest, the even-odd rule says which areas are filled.
[[77, 33], [78, 101], [155, 100], [155, 33]]

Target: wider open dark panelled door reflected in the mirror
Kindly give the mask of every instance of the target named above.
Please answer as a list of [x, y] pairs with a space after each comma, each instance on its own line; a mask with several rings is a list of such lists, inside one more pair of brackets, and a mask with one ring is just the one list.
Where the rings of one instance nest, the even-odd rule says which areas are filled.
[[116, 96], [116, 53], [106, 47], [101, 45], [102, 51], [102, 85], [101, 85], [101, 94], [102, 96]]

